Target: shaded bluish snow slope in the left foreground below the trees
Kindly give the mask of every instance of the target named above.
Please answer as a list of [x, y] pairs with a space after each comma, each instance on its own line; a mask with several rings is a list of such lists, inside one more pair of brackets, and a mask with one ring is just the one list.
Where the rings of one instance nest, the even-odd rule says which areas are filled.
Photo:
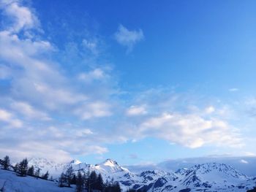
[[18, 177], [15, 172], [0, 169], [0, 189], [4, 192], [74, 192], [75, 188], [59, 188], [57, 183], [34, 177]]

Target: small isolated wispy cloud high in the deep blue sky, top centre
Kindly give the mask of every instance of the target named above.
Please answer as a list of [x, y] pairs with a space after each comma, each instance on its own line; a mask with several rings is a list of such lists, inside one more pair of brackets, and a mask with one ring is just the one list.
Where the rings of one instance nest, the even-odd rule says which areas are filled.
[[144, 39], [143, 31], [141, 29], [132, 31], [122, 25], [118, 27], [118, 31], [116, 31], [114, 37], [120, 45], [127, 47], [128, 53], [132, 51], [132, 48], [136, 43]]

